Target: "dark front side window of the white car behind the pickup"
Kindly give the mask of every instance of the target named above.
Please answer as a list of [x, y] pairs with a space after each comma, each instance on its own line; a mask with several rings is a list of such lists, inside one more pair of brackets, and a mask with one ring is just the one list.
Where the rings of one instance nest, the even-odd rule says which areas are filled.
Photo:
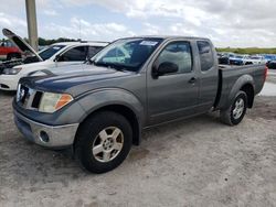
[[59, 61], [73, 62], [73, 61], [85, 61], [85, 59], [86, 59], [86, 46], [76, 46], [65, 52]]

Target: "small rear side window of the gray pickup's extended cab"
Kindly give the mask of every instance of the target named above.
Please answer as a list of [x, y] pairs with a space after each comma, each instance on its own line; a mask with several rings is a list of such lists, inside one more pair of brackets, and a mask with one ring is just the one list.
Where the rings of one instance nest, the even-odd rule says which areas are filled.
[[199, 41], [198, 48], [200, 53], [201, 70], [206, 72], [211, 69], [214, 65], [212, 47], [209, 42]]

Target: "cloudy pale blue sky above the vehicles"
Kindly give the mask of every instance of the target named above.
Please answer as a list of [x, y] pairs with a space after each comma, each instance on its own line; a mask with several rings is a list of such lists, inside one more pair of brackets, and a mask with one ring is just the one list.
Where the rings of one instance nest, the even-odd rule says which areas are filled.
[[[22, 37], [24, 2], [0, 0], [0, 28]], [[275, 8], [275, 0], [36, 0], [44, 39], [182, 35], [209, 37], [217, 47], [276, 47]]]

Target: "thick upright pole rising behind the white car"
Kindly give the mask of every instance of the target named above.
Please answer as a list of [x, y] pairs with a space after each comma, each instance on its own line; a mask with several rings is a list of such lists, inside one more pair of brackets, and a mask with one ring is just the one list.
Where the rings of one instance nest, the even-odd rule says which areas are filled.
[[38, 24], [36, 24], [36, 12], [35, 12], [35, 0], [25, 0], [25, 12], [28, 22], [28, 34], [31, 46], [38, 51]]

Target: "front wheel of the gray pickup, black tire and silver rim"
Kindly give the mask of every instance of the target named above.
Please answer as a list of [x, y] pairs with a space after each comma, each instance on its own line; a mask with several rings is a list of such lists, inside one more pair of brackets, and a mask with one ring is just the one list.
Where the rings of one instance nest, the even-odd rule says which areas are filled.
[[131, 145], [132, 129], [127, 119], [116, 112], [102, 111], [79, 126], [75, 155], [87, 171], [106, 173], [123, 163]]

